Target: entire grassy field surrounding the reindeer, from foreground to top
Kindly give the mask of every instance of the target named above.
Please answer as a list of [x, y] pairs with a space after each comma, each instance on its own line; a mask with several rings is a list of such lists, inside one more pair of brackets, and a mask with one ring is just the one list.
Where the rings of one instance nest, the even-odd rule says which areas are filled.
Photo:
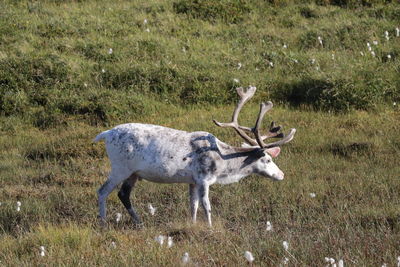
[[[0, 7], [0, 265], [179, 266], [188, 252], [189, 266], [245, 266], [245, 251], [254, 266], [285, 258], [288, 266], [325, 266], [325, 257], [398, 264], [397, 2]], [[285, 180], [211, 187], [212, 229], [202, 213], [190, 223], [187, 186], [142, 181], [132, 201], [144, 227], [132, 226], [116, 192], [108, 227], [99, 227], [96, 190], [110, 169], [104, 144], [92, 143], [99, 132], [144, 122], [240, 145], [212, 119], [228, 120], [234, 88], [250, 84], [258, 92], [243, 124], [272, 100], [265, 120], [298, 130], [275, 160]], [[160, 246], [159, 235], [173, 246]]]

